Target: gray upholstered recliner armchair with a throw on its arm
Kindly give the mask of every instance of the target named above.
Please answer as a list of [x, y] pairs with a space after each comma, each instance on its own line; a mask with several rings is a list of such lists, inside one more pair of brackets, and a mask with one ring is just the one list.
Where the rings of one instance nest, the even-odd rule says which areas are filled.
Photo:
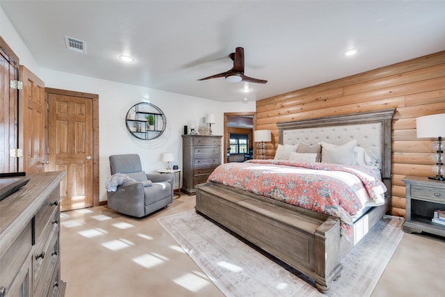
[[[136, 182], [125, 182], [116, 191], [108, 191], [108, 207], [140, 218], [173, 202], [173, 175], [145, 174], [138, 154], [116, 154], [109, 159], [111, 175], [122, 173]], [[144, 186], [147, 180], [152, 186]]]

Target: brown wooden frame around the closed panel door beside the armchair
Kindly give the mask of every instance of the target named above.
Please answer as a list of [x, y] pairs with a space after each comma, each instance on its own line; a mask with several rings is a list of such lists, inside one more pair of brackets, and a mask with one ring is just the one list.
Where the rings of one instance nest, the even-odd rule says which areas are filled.
[[[106, 201], [99, 201], [99, 95], [56, 88], [44, 88], [44, 93], [47, 104], [49, 103], [48, 94], [82, 97], [92, 100], [92, 206], [97, 207], [106, 204]], [[48, 120], [48, 115], [46, 118]], [[48, 122], [46, 125], [48, 127]], [[46, 133], [46, 140], [49, 143], [48, 129]]]

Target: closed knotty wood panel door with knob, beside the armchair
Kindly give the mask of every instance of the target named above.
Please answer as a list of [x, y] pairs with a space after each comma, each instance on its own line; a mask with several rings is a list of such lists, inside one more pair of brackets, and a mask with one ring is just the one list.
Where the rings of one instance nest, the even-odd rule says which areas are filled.
[[61, 211], [92, 207], [92, 100], [47, 93], [49, 170], [64, 170]]

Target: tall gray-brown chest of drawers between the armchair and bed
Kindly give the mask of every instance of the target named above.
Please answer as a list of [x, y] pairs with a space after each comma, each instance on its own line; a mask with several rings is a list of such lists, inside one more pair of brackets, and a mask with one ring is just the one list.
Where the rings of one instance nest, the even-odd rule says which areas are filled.
[[216, 135], [182, 136], [182, 189], [195, 195], [195, 186], [207, 182], [213, 170], [221, 164], [221, 138]]

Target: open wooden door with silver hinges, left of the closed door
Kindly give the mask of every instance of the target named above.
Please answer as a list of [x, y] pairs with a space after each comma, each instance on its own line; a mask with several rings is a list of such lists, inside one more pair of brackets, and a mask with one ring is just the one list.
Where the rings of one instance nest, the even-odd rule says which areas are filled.
[[19, 67], [19, 171], [26, 173], [45, 171], [45, 102], [44, 83], [23, 65]]

